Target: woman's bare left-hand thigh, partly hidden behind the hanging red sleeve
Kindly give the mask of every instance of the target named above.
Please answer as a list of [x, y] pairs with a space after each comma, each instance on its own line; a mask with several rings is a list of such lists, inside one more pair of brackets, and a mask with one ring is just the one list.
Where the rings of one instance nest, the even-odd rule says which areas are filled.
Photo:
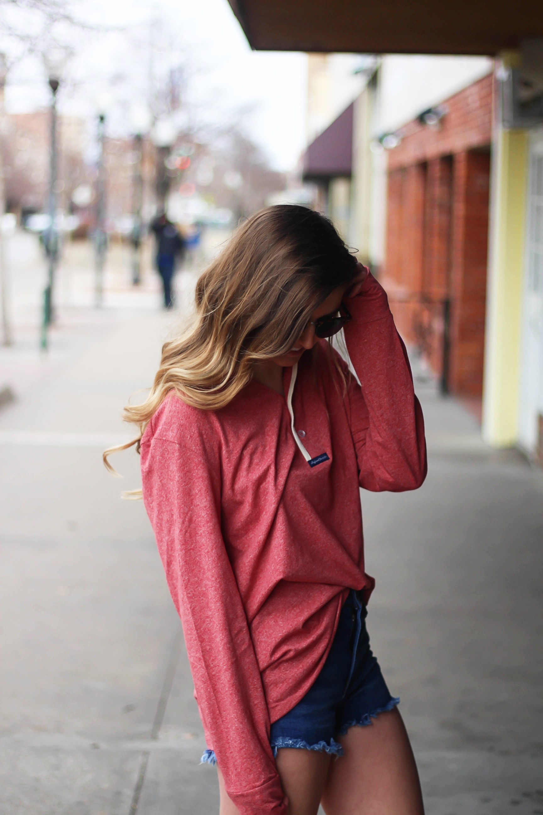
[[[330, 761], [331, 756], [319, 751], [291, 747], [278, 750], [277, 769], [288, 798], [288, 815], [317, 815]], [[221, 791], [220, 815], [239, 815], [239, 809], [226, 792], [221, 770], [218, 767], [217, 770]]]

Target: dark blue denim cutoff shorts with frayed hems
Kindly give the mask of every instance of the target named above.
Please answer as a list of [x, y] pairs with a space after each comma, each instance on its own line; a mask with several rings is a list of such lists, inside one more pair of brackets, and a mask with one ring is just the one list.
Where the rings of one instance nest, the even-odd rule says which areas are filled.
[[[269, 741], [277, 756], [281, 747], [298, 747], [343, 755], [336, 741], [348, 729], [370, 725], [379, 713], [400, 702], [388, 691], [366, 631], [366, 606], [351, 589], [339, 615], [331, 650], [304, 698], [271, 725]], [[212, 750], [202, 756], [215, 764]]]

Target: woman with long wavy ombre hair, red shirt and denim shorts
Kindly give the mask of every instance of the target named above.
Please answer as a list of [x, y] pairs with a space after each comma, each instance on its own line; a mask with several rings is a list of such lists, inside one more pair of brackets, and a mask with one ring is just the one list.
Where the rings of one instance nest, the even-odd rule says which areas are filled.
[[[360, 385], [326, 341], [340, 328]], [[264, 209], [200, 277], [195, 323], [125, 418], [144, 431], [143, 499], [221, 815], [421, 815], [364, 623], [359, 487], [426, 475], [383, 289], [326, 218]]]

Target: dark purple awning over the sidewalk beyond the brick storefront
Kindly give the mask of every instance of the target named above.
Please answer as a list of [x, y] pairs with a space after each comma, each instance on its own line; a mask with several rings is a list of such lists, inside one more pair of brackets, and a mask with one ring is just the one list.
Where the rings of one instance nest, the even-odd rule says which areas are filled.
[[304, 153], [304, 181], [351, 175], [353, 166], [353, 104], [350, 104]]

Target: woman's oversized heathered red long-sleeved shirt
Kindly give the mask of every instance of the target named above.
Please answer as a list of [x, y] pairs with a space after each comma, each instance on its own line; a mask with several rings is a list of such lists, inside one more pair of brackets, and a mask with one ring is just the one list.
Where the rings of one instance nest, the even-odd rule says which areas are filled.
[[[269, 724], [304, 696], [364, 571], [359, 486], [426, 475], [423, 414], [386, 294], [371, 275], [344, 329], [361, 386], [326, 342], [298, 364], [292, 405], [252, 381], [218, 411], [169, 396], [142, 438], [143, 498], [182, 619], [206, 742], [242, 815], [286, 811]], [[285, 393], [291, 368], [285, 368]]]

